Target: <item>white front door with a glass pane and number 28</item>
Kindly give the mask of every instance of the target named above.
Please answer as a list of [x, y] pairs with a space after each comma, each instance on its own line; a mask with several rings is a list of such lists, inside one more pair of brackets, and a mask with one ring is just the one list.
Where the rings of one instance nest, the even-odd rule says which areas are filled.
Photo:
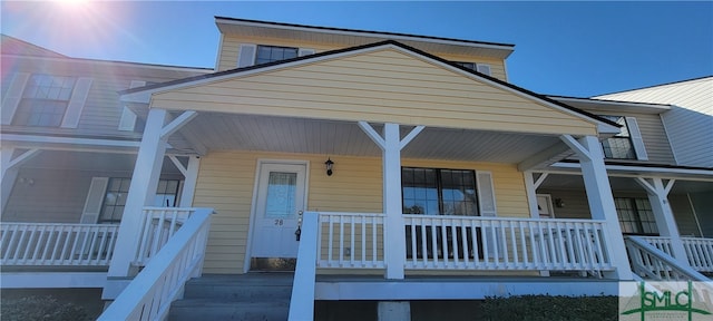
[[297, 257], [295, 236], [305, 206], [303, 164], [262, 164], [258, 173], [252, 257]]

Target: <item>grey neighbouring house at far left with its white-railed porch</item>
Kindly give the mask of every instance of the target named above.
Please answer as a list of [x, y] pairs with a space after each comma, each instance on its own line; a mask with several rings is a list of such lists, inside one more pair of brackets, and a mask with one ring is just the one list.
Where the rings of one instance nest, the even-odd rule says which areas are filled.
[[[1, 48], [2, 286], [101, 288], [144, 132], [117, 93], [212, 70], [70, 58], [4, 35]], [[167, 164], [160, 177], [156, 205], [178, 206], [184, 175]], [[102, 255], [76, 255], [105, 239]], [[58, 273], [16, 274], [28, 269]]]

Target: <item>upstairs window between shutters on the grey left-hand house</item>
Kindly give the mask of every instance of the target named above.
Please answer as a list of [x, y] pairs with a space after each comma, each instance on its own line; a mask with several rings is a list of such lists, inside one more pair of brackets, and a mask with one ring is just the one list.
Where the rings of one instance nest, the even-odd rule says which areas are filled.
[[12, 125], [59, 127], [75, 84], [74, 77], [32, 75]]

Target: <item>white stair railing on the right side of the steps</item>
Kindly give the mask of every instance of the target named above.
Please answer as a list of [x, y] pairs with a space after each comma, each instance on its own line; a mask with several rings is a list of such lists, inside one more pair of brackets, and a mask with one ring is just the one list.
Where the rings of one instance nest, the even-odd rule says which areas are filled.
[[[292, 283], [290, 317], [287, 320], [314, 320], [314, 282], [316, 278], [316, 249], [319, 213], [306, 212], [297, 251], [297, 266]], [[353, 240], [353, 239], [352, 239]], [[353, 253], [353, 252], [352, 252]]]

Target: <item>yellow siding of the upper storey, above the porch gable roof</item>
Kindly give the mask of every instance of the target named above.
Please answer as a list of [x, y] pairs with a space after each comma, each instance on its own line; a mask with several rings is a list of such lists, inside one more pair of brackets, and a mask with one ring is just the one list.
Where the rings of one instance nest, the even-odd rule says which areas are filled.
[[[270, 39], [270, 38], [241, 38], [229, 35], [223, 36], [223, 45], [219, 48], [221, 60], [218, 61], [218, 71], [235, 69], [237, 67], [238, 48], [241, 43], [251, 45], [266, 45], [266, 46], [282, 46], [282, 47], [295, 47], [295, 48], [309, 48], [314, 49], [316, 52], [324, 52], [330, 50], [344, 49], [330, 43], [318, 42], [304, 42], [294, 41], [290, 39]], [[377, 42], [374, 40], [374, 42]], [[358, 46], [358, 45], [354, 45]], [[486, 57], [472, 57], [472, 56], [455, 56], [442, 52], [429, 52], [450, 61], [465, 61], [465, 62], [480, 62], [490, 65], [490, 71], [492, 77], [507, 81], [505, 61]]]

